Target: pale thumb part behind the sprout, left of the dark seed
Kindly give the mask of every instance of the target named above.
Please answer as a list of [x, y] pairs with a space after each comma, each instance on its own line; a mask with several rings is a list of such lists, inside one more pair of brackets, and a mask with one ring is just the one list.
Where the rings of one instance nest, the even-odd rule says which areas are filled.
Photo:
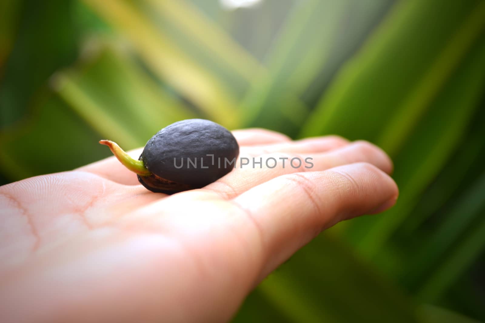
[[[143, 148], [137, 148], [130, 150], [128, 154], [134, 158], [138, 159], [142, 153]], [[78, 169], [79, 171], [85, 171], [89, 173], [96, 174], [107, 180], [113, 181], [115, 183], [124, 185], [138, 185], [138, 178], [136, 174], [129, 171], [125, 166], [123, 166], [116, 157], [111, 156], [97, 162], [82, 166]]]

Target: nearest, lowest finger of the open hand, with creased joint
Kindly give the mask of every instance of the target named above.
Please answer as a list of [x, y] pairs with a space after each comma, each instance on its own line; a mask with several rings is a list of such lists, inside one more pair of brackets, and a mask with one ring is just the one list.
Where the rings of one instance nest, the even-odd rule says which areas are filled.
[[265, 277], [323, 229], [384, 211], [397, 196], [397, 185], [386, 173], [356, 163], [280, 176], [232, 201], [259, 231]]

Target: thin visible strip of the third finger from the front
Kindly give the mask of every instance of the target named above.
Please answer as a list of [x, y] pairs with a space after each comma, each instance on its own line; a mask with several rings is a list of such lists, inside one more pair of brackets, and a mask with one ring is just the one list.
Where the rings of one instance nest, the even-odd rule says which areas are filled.
[[339, 136], [305, 138], [290, 142], [278, 142], [270, 145], [242, 147], [242, 155], [259, 156], [270, 153], [323, 153], [349, 144], [349, 140]]

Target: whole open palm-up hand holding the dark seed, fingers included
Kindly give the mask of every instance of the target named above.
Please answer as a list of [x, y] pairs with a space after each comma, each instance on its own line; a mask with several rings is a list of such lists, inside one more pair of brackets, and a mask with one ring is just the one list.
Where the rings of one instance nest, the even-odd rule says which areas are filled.
[[167, 196], [110, 157], [1, 186], [2, 322], [226, 322], [322, 230], [397, 199], [390, 159], [368, 142], [233, 133], [240, 157], [314, 167], [238, 168]]

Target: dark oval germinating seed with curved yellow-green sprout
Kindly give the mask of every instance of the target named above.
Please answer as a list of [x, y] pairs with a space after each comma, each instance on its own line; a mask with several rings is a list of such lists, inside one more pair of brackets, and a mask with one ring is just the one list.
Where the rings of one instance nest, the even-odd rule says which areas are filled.
[[230, 172], [239, 154], [236, 138], [223, 126], [209, 120], [188, 119], [172, 123], [156, 133], [138, 160], [116, 143], [101, 140], [152, 192], [173, 194], [208, 185]]

